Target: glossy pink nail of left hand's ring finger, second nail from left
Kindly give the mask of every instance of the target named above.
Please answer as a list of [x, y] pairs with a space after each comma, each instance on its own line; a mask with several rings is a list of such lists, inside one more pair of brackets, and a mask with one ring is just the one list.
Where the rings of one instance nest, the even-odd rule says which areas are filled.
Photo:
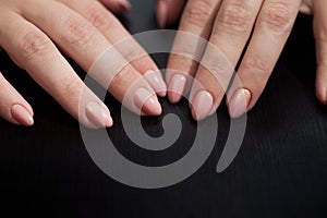
[[104, 108], [97, 102], [89, 102], [85, 110], [87, 119], [98, 128], [110, 128], [113, 124], [108, 108]]

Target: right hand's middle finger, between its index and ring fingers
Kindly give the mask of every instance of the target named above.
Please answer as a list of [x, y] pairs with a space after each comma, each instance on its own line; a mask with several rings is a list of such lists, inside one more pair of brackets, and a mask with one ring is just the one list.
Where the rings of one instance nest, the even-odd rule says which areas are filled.
[[[222, 2], [210, 36], [210, 47], [216, 49], [207, 48], [195, 76], [203, 87], [193, 86], [190, 95], [194, 119], [204, 119], [220, 105], [261, 5], [262, 0]], [[218, 52], [225, 57], [219, 57]], [[202, 98], [208, 96], [211, 99], [210, 104], [203, 105]]]

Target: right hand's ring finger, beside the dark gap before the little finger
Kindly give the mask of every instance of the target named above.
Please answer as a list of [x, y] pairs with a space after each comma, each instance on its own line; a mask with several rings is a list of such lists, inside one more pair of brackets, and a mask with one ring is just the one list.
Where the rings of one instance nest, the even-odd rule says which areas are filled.
[[257, 17], [227, 104], [232, 118], [252, 109], [262, 95], [299, 13], [301, 0], [267, 0]]

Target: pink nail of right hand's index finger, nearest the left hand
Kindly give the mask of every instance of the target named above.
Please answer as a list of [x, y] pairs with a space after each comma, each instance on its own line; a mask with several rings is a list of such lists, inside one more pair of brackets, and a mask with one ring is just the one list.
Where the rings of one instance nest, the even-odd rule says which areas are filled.
[[182, 74], [175, 74], [169, 84], [168, 98], [170, 102], [177, 104], [181, 100], [186, 86], [186, 77]]

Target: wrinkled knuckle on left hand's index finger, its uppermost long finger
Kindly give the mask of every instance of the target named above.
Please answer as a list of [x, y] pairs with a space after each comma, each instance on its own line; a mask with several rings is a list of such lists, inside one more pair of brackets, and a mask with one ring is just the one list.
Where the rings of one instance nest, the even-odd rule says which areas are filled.
[[101, 9], [90, 7], [87, 12], [89, 22], [101, 32], [112, 28], [112, 20]]

